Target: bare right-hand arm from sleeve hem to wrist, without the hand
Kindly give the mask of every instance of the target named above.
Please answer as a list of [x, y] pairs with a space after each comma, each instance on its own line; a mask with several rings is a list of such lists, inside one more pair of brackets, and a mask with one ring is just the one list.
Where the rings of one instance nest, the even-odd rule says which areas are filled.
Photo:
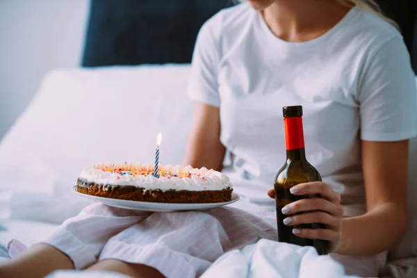
[[345, 218], [336, 252], [371, 255], [398, 244], [407, 229], [409, 140], [362, 141], [366, 214]]

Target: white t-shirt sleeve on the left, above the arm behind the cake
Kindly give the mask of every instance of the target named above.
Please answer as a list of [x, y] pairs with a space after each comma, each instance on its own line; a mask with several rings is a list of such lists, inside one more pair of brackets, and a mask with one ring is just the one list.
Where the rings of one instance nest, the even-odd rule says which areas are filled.
[[199, 31], [195, 43], [188, 96], [210, 106], [220, 106], [218, 92], [218, 43], [213, 19], [208, 20]]

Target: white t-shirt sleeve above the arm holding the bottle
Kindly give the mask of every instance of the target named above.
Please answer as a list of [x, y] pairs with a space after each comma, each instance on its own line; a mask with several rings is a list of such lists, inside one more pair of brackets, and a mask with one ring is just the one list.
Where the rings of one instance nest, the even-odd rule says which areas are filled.
[[416, 76], [402, 38], [370, 56], [359, 85], [361, 139], [399, 141], [417, 135]]

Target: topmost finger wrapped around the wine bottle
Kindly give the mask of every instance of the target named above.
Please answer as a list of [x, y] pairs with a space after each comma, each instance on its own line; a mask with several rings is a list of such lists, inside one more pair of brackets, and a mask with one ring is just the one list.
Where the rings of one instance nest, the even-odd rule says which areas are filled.
[[290, 192], [293, 195], [320, 195], [328, 199], [330, 202], [340, 204], [341, 195], [336, 193], [332, 188], [329, 188], [326, 183], [322, 181], [313, 181], [309, 183], [300, 183], [291, 188]]

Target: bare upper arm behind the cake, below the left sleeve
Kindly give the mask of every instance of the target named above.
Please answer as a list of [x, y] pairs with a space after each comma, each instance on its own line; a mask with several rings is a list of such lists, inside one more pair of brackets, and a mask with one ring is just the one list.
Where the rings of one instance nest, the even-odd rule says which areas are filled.
[[184, 165], [220, 171], [226, 148], [220, 142], [220, 109], [195, 104]]

